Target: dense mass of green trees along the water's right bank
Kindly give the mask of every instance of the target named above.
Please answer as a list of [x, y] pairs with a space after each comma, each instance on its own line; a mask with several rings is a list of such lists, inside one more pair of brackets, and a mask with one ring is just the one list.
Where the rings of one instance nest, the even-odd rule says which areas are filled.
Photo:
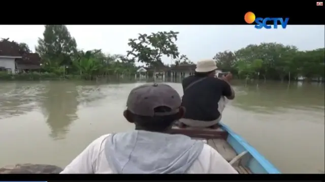
[[[226, 62], [226, 54], [217, 54], [216, 60], [224, 60]], [[222, 56], [223, 55], [223, 56]], [[247, 47], [235, 51], [235, 64], [219, 64], [222, 67], [231, 67], [235, 69], [239, 75], [243, 75], [252, 65], [258, 61], [258, 68], [248, 72], [258, 73], [258, 77], [268, 79], [295, 79], [298, 76], [304, 76], [308, 79], [312, 77], [324, 78], [324, 49], [317, 49], [313, 51], [298, 51], [293, 45], [283, 45], [281, 43], [261, 43], [250, 44]], [[221, 61], [218, 61], [220, 63]], [[230, 60], [228, 61], [230, 62]], [[255, 62], [255, 63], [254, 63]], [[261, 65], [262, 63], [262, 65]], [[256, 70], [257, 69], [257, 70]], [[244, 71], [245, 70], [245, 71]], [[240, 73], [239, 73], [240, 72]], [[252, 74], [248, 74], [252, 77]], [[256, 77], [256, 75], [254, 75]]]

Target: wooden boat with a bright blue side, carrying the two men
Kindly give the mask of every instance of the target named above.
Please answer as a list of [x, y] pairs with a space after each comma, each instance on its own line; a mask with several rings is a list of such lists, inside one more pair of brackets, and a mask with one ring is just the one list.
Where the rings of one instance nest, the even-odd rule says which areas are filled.
[[217, 129], [173, 126], [171, 133], [203, 140], [216, 149], [241, 174], [280, 173], [263, 155], [225, 124], [220, 123]]

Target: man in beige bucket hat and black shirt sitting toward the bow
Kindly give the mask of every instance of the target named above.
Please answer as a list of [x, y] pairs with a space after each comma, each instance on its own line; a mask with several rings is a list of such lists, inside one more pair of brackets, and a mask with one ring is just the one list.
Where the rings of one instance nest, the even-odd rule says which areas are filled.
[[186, 108], [180, 126], [214, 127], [221, 120], [226, 102], [235, 98], [230, 85], [232, 74], [215, 78], [217, 69], [214, 60], [201, 60], [197, 63], [194, 75], [183, 79], [182, 106]]

